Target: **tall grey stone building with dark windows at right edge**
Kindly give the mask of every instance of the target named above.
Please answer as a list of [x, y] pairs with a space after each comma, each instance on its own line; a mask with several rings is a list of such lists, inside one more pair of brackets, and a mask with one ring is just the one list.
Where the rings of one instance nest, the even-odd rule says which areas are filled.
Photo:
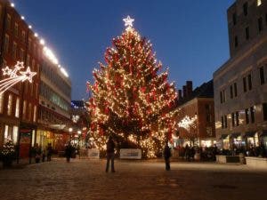
[[237, 0], [227, 11], [231, 58], [214, 72], [221, 148], [267, 146], [267, 1]]

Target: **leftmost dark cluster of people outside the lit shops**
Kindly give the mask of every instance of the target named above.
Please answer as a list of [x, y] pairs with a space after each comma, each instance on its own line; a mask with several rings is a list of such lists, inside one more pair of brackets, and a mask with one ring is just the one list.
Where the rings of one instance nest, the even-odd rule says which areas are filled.
[[35, 144], [34, 148], [31, 150], [31, 157], [35, 158], [36, 164], [40, 163], [40, 161], [44, 162], [45, 157], [46, 161], [51, 161], [53, 149], [52, 144], [48, 143], [46, 148], [40, 147], [38, 144]]

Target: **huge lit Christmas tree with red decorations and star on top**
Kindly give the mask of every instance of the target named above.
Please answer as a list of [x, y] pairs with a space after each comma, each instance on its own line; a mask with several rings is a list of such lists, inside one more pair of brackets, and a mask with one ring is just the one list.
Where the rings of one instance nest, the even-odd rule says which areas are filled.
[[177, 93], [167, 82], [167, 70], [152, 44], [133, 28], [129, 16], [125, 31], [113, 39], [105, 52], [106, 65], [93, 70], [94, 84], [88, 84], [91, 116], [90, 140], [105, 150], [109, 135], [118, 148], [141, 148], [143, 157], [160, 156], [164, 142], [177, 128]]

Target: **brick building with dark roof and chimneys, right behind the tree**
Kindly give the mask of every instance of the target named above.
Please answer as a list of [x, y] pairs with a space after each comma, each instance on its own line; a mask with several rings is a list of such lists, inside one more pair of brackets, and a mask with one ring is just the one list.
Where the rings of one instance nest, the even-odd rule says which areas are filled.
[[211, 147], [215, 143], [214, 127], [214, 88], [213, 81], [202, 84], [192, 91], [192, 83], [187, 82], [183, 86], [182, 95], [179, 97], [178, 123], [182, 123], [185, 117], [189, 116], [192, 124], [180, 124], [179, 133], [174, 136], [174, 147], [186, 144], [198, 145], [199, 147]]

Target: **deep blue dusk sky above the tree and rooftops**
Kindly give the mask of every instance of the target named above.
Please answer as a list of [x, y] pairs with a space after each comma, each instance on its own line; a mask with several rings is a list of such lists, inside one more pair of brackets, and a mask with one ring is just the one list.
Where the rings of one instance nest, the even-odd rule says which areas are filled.
[[85, 83], [113, 37], [124, 31], [127, 15], [150, 39], [156, 58], [181, 88], [212, 79], [229, 59], [227, 8], [234, 0], [13, 0], [69, 72], [72, 100], [87, 99]]

